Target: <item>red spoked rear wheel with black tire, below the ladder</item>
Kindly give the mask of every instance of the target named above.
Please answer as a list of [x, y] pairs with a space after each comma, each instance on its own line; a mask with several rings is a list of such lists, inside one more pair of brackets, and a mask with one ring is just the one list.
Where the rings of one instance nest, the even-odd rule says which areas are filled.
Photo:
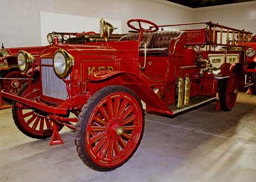
[[236, 104], [238, 82], [236, 73], [232, 73], [228, 82], [221, 84], [220, 107], [222, 110], [231, 110]]

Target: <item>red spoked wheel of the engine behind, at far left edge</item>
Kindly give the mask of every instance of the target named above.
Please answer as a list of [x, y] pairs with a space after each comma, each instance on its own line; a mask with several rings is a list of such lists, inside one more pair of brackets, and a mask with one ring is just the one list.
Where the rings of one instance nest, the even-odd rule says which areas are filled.
[[17, 95], [19, 89], [27, 82], [27, 80], [22, 79], [26, 79], [26, 77], [22, 75], [20, 71], [11, 70], [4, 75], [2, 89], [4, 89], [4, 91], [7, 93]]

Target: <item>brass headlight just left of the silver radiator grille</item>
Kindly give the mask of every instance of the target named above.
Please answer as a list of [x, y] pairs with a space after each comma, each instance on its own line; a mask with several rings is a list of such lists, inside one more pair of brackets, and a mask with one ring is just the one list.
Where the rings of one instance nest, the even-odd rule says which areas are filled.
[[29, 68], [31, 68], [31, 63], [35, 61], [35, 57], [26, 52], [25, 50], [20, 50], [17, 56], [18, 66], [20, 72], [28, 72]]

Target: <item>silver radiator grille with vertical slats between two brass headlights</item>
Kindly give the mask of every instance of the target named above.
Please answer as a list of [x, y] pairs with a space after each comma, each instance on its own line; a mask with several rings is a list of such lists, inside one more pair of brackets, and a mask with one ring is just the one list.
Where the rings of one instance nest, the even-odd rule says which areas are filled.
[[[52, 64], [52, 59], [41, 59], [41, 63]], [[42, 92], [52, 98], [67, 99], [66, 84], [55, 75], [51, 66], [42, 66]]]

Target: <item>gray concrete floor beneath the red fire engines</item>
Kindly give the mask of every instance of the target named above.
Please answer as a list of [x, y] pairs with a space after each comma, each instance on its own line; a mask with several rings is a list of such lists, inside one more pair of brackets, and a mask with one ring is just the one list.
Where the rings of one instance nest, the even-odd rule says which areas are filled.
[[147, 114], [140, 147], [111, 172], [79, 159], [74, 133], [62, 146], [30, 139], [0, 110], [0, 181], [256, 181], [256, 96], [239, 93], [230, 112], [209, 103], [175, 118]]

